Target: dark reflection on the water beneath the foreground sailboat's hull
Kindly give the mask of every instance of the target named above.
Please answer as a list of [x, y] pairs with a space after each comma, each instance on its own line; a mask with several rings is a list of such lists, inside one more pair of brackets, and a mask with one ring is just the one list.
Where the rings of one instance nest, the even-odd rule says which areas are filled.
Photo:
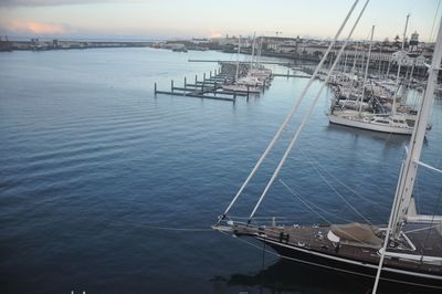
[[[211, 280], [215, 293], [371, 293], [372, 280], [349, 276], [312, 265], [280, 260], [255, 273], [233, 273], [230, 277], [214, 276]], [[379, 284], [378, 293], [423, 294], [431, 290]]]

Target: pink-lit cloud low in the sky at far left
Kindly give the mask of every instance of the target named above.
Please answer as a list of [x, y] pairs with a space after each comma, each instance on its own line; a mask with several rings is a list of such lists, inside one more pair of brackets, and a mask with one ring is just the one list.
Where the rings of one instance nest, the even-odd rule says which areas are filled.
[[0, 22], [3, 31], [19, 34], [63, 34], [71, 30], [59, 23], [46, 23], [36, 21], [6, 21]]

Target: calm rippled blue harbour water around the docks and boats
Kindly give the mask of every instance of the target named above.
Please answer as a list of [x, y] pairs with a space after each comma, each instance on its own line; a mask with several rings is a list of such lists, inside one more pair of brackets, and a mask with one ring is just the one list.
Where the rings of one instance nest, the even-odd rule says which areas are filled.
[[[190, 81], [217, 69], [189, 57], [235, 60], [219, 52], [151, 49], [0, 54], [0, 293], [370, 288], [370, 282], [278, 262], [263, 254], [260, 243], [210, 230], [307, 80], [275, 77], [261, 97], [235, 104], [155, 97], [155, 82], [168, 88], [171, 78], [179, 85], [185, 76]], [[320, 85], [315, 82], [313, 90]], [[327, 209], [323, 217], [329, 221], [364, 221], [340, 196], [369, 221], [385, 223], [408, 138], [329, 126], [329, 95], [323, 94], [281, 179]], [[417, 96], [411, 93], [410, 103]], [[312, 91], [307, 102], [313, 97]], [[441, 115], [439, 99], [423, 154], [436, 167], [442, 166]], [[290, 135], [232, 214], [251, 212]], [[441, 212], [434, 204], [441, 182], [422, 170], [420, 211]], [[257, 216], [323, 221], [278, 181]]]

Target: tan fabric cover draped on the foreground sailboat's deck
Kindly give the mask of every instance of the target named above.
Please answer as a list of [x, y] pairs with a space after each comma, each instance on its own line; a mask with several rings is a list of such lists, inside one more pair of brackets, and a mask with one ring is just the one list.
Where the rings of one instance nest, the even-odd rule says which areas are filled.
[[368, 224], [361, 224], [358, 222], [332, 224], [330, 230], [334, 234], [340, 238], [343, 243], [360, 243], [360, 245], [380, 248], [383, 242], [382, 239], [376, 235], [377, 230]]

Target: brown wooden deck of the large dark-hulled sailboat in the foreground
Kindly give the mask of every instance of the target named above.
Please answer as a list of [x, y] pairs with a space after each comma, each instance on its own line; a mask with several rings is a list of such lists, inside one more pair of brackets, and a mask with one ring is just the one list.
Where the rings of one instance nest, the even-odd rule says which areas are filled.
[[[236, 235], [252, 235], [271, 245], [281, 243], [297, 249], [305, 249], [327, 256], [364, 262], [372, 265], [379, 263], [380, 246], [365, 243], [333, 242], [327, 237], [330, 227], [272, 225], [251, 227], [233, 224]], [[442, 234], [441, 225], [406, 224], [399, 242], [387, 248], [385, 266], [410, 270], [421, 273], [442, 275]], [[385, 230], [378, 232], [385, 238]], [[422, 258], [423, 256], [423, 258]]]

